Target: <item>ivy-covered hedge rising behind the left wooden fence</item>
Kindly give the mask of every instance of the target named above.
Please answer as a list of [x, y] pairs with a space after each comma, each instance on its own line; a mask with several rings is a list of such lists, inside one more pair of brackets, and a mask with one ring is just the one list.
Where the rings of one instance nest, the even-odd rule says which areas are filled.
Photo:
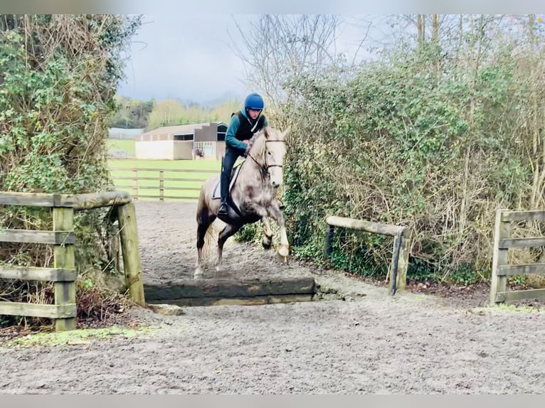
[[[111, 188], [108, 121], [139, 24], [139, 17], [116, 15], [0, 16], [0, 190], [78, 194]], [[104, 213], [76, 214], [78, 272], [111, 264]], [[0, 215], [2, 225], [51, 230], [48, 210], [0, 207]], [[48, 266], [52, 257], [45, 246], [13, 245], [0, 249], [0, 259]], [[19, 290], [12, 293], [25, 299]]]

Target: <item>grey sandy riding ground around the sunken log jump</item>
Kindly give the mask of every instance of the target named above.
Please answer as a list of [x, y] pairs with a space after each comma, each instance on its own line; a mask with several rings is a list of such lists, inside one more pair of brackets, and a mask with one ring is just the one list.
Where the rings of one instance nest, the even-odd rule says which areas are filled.
[[[144, 279], [193, 273], [195, 205], [137, 203]], [[309, 274], [345, 300], [131, 313], [156, 327], [80, 345], [0, 345], [0, 393], [541, 394], [545, 316], [371, 286], [231, 243], [227, 274]], [[207, 279], [213, 279], [213, 272]]]

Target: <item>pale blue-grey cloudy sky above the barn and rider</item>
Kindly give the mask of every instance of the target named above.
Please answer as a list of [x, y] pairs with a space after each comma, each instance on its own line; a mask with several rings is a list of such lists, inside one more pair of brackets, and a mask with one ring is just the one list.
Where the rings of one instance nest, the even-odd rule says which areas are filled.
[[[248, 25], [244, 14], [156, 14], [132, 38], [125, 66], [127, 78], [118, 94], [142, 100], [179, 99], [207, 104], [239, 99], [254, 90], [245, 86], [242, 61], [233, 53], [240, 41], [236, 22]], [[255, 16], [253, 16], [255, 18]], [[347, 23], [338, 41], [339, 50], [354, 53], [361, 28]]]

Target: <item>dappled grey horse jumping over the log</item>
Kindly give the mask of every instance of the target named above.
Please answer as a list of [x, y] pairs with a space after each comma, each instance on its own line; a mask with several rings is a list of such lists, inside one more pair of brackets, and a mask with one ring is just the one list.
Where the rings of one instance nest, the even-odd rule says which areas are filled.
[[276, 193], [282, 186], [284, 178], [285, 137], [289, 131], [289, 128], [280, 131], [265, 127], [252, 136], [248, 142], [248, 156], [238, 168], [233, 170], [227, 215], [218, 216], [220, 176], [211, 176], [201, 186], [196, 214], [198, 259], [194, 279], [202, 277], [201, 262], [205, 235], [216, 218], [226, 222], [226, 227], [218, 235], [216, 272], [220, 272], [222, 268], [223, 245], [226, 240], [245, 224], [261, 221], [265, 233], [262, 240], [263, 247], [270, 248], [272, 230], [269, 218], [276, 220], [280, 227], [278, 254], [284, 260], [287, 258], [290, 245], [287, 241], [284, 215], [277, 203]]

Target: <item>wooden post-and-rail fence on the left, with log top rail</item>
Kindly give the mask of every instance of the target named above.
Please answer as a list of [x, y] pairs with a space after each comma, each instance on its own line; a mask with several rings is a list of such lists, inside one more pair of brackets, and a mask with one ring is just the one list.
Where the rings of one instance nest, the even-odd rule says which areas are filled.
[[54, 246], [53, 268], [0, 266], [0, 279], [53, 281], [54, 304], [1, 301], [0, 315], [52, 318], [57, 331], [75, 328], [74, 211], [107, 206], [117, 210], [129, 294], [137, 304], [145, 305], [136, 213], [130, 195], [120, 192], [80, 195], [0, 192], [0, 205], [53, 209], [53, 231], [1, 229], [0, 242]]

